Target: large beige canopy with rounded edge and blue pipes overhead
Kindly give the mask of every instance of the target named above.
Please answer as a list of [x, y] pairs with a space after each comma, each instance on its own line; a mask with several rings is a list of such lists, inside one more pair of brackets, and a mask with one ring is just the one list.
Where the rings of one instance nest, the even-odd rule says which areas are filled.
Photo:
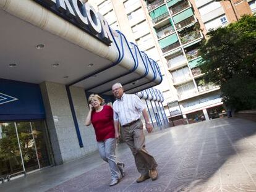
[[121, 31], [108, 28], [113, 39], [108, 46], [31, 0], [0, 1], [0, 22], [0, 78], [51, 81], [104, 94], [112, 94], [116, 82], [136, 93], [162, 81], [158, 64]]

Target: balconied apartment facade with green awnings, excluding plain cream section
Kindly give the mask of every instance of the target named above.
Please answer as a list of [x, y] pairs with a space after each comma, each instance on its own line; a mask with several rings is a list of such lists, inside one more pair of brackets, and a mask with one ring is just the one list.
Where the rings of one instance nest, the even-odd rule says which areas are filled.
[[236, 22], [252, 14], [247, 1], [145, 1], [158, 43], [168, 63], [177, 90], [177, 101], [169, 103], [174, 121], [187, 123], [223, 115], [220, 88], [205, 84], [198, 65], [198, 47], [207, 31]]

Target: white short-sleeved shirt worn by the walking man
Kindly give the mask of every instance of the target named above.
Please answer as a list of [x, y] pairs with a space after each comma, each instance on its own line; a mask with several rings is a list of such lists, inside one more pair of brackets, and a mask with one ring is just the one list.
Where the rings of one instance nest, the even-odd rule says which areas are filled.
[[121, 99], [116, 99], [113, 104], [114, 120], [121, 125], [140, 119], [145, 105], [135, 94], [123, 94]]

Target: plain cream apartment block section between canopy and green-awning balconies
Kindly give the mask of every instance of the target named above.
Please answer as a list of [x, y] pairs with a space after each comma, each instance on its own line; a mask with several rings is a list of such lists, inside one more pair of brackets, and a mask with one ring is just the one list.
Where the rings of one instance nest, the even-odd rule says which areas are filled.
[[127, 41], [136, 43], [139, 49], [160, 65], [163, 82], [156, 86], [164, 94], [164, 109], [169, 114], [167, 103], [176, 100], [176, 90], [172, 85], [171, 74], [167, 73], [167, 65], [161, 54], [155, 31], [151, 27], [151, 18], [140, 0], [89, 0], [90, 4], [100, 12], [114, 30], [119, 30], [127, 37]]

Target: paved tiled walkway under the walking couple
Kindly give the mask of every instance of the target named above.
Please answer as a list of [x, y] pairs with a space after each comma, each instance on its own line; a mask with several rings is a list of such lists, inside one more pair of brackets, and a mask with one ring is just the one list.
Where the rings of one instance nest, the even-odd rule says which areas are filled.
[[126, 144], [117, 149], [126, 176], [109, 187], [98, 153], [0, 185], [0, 191], [256, 191], [256, 123], [215, 119], [158, 131], [146, 138], [158, 162], [156, 181], [139, 177]]

